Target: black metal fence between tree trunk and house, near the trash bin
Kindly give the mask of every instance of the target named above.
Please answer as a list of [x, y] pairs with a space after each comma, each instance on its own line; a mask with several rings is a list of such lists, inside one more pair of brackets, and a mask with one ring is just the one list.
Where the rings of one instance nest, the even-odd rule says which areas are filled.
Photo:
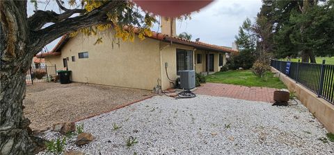
[[56, 65], [54, 66], [31, 66], [26, 72], [26, 84], [34, 84], [38, 82], [51, 82], [56, 78]]

